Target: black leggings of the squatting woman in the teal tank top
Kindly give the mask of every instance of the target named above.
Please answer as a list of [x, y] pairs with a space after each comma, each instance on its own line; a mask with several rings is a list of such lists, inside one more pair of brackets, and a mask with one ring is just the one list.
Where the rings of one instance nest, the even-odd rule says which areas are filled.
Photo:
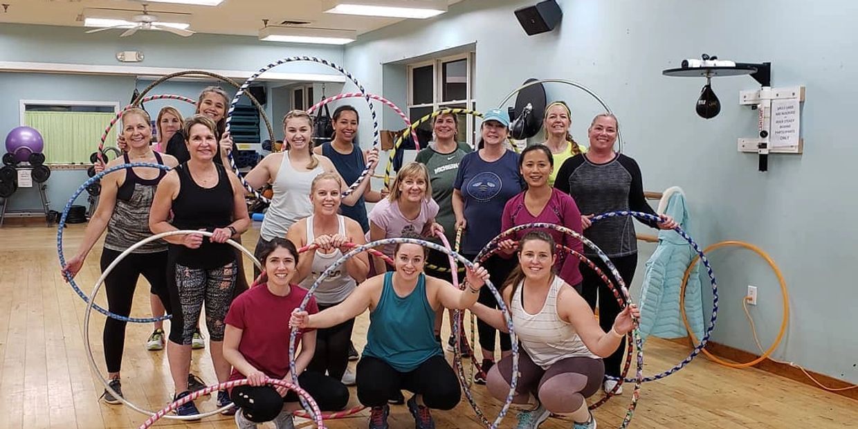
[[452, 409], [462, 398], [459, 380], [444, 356], [433, 356], [414, 371], [398, 372], [384, 360], [364, 356], [358, 361], [358, 399], [366, 407], [381, 407], [399, 390], [423, 396], [426, 407]]

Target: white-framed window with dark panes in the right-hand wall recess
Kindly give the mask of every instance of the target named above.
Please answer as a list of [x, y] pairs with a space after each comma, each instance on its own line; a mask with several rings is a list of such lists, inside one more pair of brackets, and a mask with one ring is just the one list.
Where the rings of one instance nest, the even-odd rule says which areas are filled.
[[[408, 65], [408, 118], [412, 122], [444, 107], [474, 109], [474, 52]], [[470, 115], [468, 115], [470, 117]], [[459, 116], [456, 138], [474, 144], [472, 118]], [[432, 139], [431, 121], [417, 127], [420, 142]]]

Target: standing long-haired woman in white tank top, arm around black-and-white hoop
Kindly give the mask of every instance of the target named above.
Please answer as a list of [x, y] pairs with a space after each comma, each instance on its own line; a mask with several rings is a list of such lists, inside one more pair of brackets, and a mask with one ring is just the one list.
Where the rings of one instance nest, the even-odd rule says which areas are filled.
[[[257, 251], [264, 241], [275, 237], [285, 237], [287, 229], [299, 219], [312, 214], [310, 202], [310, 184], [323, 172], [333, 172], [339, 177], [334, 164], [328, 157], [312, 153], [313, 120], [306, 112], [293, 110], [283, 118], [283, 134], [287, 150], [269, 154], [262, 162], [247, 173], [245, 179], [254, 189], [266, 184], [272, 185], [274, 196], [265, 213], [263, 226], [259, 231]], [[372, 169], [378, 162], [378, 151], [366, 155], [366, 165]], [[354, 205], [369, 185], [370, 175], [342, 203]], [[341, 180], [342, 182], [342, 180]], [[349, 184], [341, 183], [341, 191]], [[259, 275], [258, 269], [255, 271]]]

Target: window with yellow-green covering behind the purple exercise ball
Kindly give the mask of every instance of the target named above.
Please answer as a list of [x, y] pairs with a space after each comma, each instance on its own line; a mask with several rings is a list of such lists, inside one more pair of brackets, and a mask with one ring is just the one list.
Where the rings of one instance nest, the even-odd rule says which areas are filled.
[[[36, 130], [45, 142], [45, 164], [89, 163], [107, 125], [116, 118], [115, 101], [21, 100], [21, 125]], [[105, 146], [116, 146], [119, 123], [107, 135]]]

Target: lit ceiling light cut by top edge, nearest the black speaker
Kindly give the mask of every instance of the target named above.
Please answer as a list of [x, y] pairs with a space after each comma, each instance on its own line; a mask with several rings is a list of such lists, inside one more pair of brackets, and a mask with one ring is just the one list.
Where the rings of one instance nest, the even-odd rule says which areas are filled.
[[447, 11], [446, 0], [323, 0], [329, 14], [384, 16], [389, 18], [431, 18]]

